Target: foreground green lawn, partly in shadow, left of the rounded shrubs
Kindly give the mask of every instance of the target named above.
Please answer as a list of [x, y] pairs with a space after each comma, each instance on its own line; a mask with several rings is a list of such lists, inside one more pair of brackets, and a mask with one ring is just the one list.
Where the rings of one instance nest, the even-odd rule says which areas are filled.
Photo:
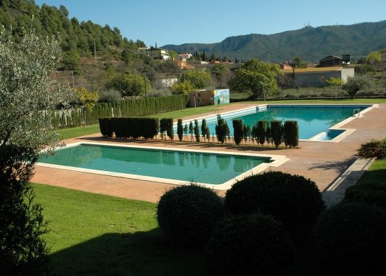
[[156, 204], [32, 184], [51, 231], [53, 275], [203, 275], [203, 251], [171, 248]]

